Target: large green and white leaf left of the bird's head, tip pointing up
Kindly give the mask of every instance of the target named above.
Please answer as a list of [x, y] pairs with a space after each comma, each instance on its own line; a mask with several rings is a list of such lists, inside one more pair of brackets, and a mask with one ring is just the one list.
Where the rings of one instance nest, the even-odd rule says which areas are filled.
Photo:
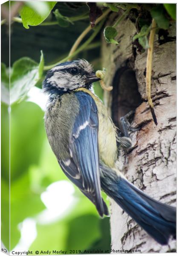
[[[35, 86], [43, 73], [43, 52], [41, 51], [40, 63], [31, 58], [23, 57], [15, 61], [11, 70], [11, 90], [10, 105], [18, 100], [22, 100], [28, 91]], [[6, 65], [1, 64], [1, 100], [9, 104], [9, 71]]]

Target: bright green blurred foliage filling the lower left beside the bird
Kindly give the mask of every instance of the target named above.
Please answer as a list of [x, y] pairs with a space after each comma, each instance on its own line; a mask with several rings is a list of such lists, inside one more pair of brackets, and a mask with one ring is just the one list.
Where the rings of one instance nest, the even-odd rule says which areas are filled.
[[[8, 127], [8, 108], [2, 104], [3, 124]], [[24, 219], [35, 218], [46, 207], [40, 195], [49, 184], [58, 180], [67, 180], [46, 139], [43, 111], [32, 102], [22, 101], [11, 107], [11, 189], [10, 189], [10, 225], [12, 250], [20, 239], [18, 224]], [[3, 132], [4, 129], [2, 129]], [[7, 147], [7, 137], [2, 141], [3, 148]], [[6, 146], [5, 146], [6, 144]], [[8, 156], [8, 152], [6, 153]], [[8, 157], [3, 154], [2, 163], [2, 220], [4, 227], [9, 224], [9, 172]], [[6, 161], [6, 163], [5, 163]], [[6, 164], [6, 166], [5, 166]], [[63, 195], [59, 195], [59, 197]], [[30, 250], [83, 250], [100, 240], [100, 221], [95, 206], [75, 188], [76, 205], [60, 220], [50, 224], [37, 224], [37, 238]], [[57, 202], [58, 203], [58, 202]], [[108, 218], [107, 218], [108, 219]], [[109, 220], [108, 220], [109, 222]], [[110, 246], [110, 231], [108, 247]], [[2, 240], [9, 247], [8, 232], [3, 232]], [[105, 243], [106, 244], [106, 243]], [[83, 246], [82, 246], [83, 245]]]

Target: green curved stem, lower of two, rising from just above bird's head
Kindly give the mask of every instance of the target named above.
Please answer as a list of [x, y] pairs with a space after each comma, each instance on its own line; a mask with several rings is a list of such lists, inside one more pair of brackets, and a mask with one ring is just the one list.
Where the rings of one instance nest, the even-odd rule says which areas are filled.
[[58, 61], [55, 64], [49, 65], [49, 66], [44, 66], [43, 70], [49, 70], [52, 67], [55, 67], [56, 65], [63, 63], [64, 61], [67, 61], [69, 58], [73, 58], [75, 55], [77, 55], [79, 52], [83, 51], [84, 49], [87, 48], [87, 45], [91, 43], [91, 41], [95, 38], [95, 36], [98, 34], [98, 32], [100, 31], [101, 27], [103, 26], [104, 20], [101, 20], [101, 23], [95, 28], [95, 31], [92, 33], [92, 35], [90, 36], [90, 38], [88, 38], [88, 40], [86, 42], [84, 42], [84, 44], [81, 45], [81, 47], [79, 47], [75, 52], [72, 53], [72, 55], [68, 55], [66, 58]]

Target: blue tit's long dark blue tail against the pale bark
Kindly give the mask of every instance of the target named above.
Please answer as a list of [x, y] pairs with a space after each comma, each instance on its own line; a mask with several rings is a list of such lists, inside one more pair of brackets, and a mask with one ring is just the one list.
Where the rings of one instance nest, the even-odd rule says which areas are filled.
[[176, 208], [162, 204], [124, 177], [101, 165], [101, 188], [160, 244], [167, 244], [170, 236], [176, 237]]

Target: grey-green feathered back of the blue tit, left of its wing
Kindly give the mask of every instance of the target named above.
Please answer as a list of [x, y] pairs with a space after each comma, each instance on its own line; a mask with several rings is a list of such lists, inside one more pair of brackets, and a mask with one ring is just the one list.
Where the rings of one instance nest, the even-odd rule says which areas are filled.
[[44, 117], [46, 134], [58, 160], [69, 157], [69, 138], [78, 111], [79, 102], [74, 93], [54, 99], [47, 108]]

